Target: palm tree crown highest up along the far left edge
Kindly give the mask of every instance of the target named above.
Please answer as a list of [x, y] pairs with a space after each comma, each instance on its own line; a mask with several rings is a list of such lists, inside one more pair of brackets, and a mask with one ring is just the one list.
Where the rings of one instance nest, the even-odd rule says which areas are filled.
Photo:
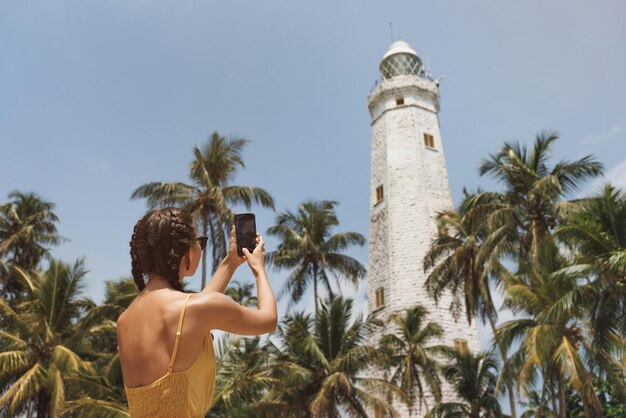
[[[0, 205], [0, 259], [6, 258], [9, 263], [30, 270], [49, 255], [47, 246], [60, 244], [66, 238], [57, 233], [59, 218], [53, 212], [54, 203], [36, 193], [18, 190], [9, 193], [9, 199], [12, 200]], [[3, 276], [6, 282], [2, 295], [13, 303], [23, 289], [12, 275]]]

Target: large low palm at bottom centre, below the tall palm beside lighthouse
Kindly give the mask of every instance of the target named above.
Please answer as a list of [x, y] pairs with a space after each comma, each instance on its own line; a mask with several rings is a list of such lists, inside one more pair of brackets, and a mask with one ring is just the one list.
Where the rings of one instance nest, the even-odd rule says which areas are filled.
[[309, 314], [287, 316], [277, 331], [284, 348], [277, 358], [297, 364], [307, 373], [283, 373], [274, 396], [289, 409], [289, 417], [366, 417], [367, 408], [385, 416], [397, 412], [377, 394], [406, 395], [384, 379], [360, 377], [372, 361], [380, 361], [375, 347], [365, 343], [360, 317], [351, 324], [352, 299], [340, 296], [321, 301], [314, 319]]

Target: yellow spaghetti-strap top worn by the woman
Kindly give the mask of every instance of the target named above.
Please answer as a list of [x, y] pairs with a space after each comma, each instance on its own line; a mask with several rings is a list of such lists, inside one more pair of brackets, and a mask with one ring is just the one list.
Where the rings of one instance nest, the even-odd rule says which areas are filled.
[[204, 336], [203, 349], [194, 363], [185, 370], [172, 371], [174, 361], [176, 361], [183, 316], [191, 295], [192, 293], [185, 299], [178, 318], [176, 341], [167, 373], [144, 386], [131, 388], [124, 382], [128, 410], [132, 418], [204, 417], [211, 407], [215, 386], [215, 351], [213, 336], [210, 332]]

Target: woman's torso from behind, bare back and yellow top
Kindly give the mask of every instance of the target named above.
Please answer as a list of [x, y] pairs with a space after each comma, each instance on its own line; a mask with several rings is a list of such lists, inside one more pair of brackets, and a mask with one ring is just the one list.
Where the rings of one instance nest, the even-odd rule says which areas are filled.
[[192, 295], [171, 290], [140, 294], [118, 319], [132, 417], [203, 417], [211, 405], [215, 352], [210, 332], [189, 313]]

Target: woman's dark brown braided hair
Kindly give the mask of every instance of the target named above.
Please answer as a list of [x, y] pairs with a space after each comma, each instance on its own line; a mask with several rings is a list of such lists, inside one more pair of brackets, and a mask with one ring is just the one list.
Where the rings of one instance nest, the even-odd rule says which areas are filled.
[[154, 272], [184, 292], [179, 280], [180, 261], [196, 235], [193, 218], [184, 210], [166, 207], [148, 211], [135, 224], [130, 240], [133, 279], [139, 291], [146, 286], [144, 273]]

